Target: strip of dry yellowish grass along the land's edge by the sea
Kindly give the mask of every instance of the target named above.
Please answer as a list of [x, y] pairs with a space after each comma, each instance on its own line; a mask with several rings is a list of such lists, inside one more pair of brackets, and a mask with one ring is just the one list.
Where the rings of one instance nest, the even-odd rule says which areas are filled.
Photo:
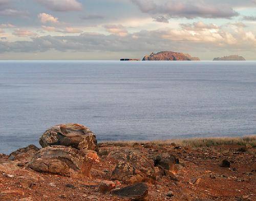
[[183, 147], [198, 148], [198, 147], [213, 147], [221, 145], [240, 145], [246, 144], [256, 147], [256, 135], [237, 138], [191, 138], [191, 139], [170, 139], [170, 140], [155, 140], [155, 141], [107, 141], [116, 146], [132, 146], [134, 143], [155, 143], [155, 144], [171, 144], [175, 143]]

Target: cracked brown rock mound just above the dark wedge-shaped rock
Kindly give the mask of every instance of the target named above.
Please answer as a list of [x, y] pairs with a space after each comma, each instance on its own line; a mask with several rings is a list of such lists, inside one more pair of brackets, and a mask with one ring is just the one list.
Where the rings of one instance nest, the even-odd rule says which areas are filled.
[[119, 161], [112, 172], [112, 180], [119, 180], [126, 184], [154, 183], [156, 180], [153, 161], [146, 159], [137, 151], [115, 150], [109, 153], [106, 160]]

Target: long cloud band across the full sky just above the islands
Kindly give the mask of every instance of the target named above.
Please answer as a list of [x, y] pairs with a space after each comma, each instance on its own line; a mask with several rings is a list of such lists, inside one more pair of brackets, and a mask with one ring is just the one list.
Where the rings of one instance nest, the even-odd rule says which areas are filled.
[[[194, 27], [194, 25], [193, 25]], [[32, 41], [0, 42], [0, 53], [4, 52], [140, 52], [172, 50], [188, 52], [247, 51], [256, 49], [255, 33], [244, 30], [239, 25], [226, 24], [214, 31], [212, 25], [200, 25], [207, 29], [185, 30], [157, 29], [139, 31], [125, 36], [119, 34], [104, 35], [98, 33], [81, 33], [77, 36], [41, 36], [32, 37]], [[27, 33], [27, 32], [26, 32]], [[23, 34], [24, 35], [24, 34]], [[28, 34], [26, 34], [28, 35]], [[31, 35], [31, 34], [29, 34]], [[197, 55], [195, 55], [197, 56]], [[198, 55], [200, 56], [200, 55]]]

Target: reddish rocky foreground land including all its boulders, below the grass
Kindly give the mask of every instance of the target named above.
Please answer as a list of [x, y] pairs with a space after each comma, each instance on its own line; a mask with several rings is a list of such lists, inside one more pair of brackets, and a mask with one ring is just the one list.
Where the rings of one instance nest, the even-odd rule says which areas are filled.
[[1, 201], [256, 200], [255, 144], [97, 144], [80, 124], [54, 126], [39, 142], [0, 154]]

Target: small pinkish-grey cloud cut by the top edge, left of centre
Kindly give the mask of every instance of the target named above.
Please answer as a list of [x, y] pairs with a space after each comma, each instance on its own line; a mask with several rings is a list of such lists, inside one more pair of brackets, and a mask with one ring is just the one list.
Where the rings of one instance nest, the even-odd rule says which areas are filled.
[[82, 4], [76, 0], [35, 0], [53, 11], [81, 11]]

